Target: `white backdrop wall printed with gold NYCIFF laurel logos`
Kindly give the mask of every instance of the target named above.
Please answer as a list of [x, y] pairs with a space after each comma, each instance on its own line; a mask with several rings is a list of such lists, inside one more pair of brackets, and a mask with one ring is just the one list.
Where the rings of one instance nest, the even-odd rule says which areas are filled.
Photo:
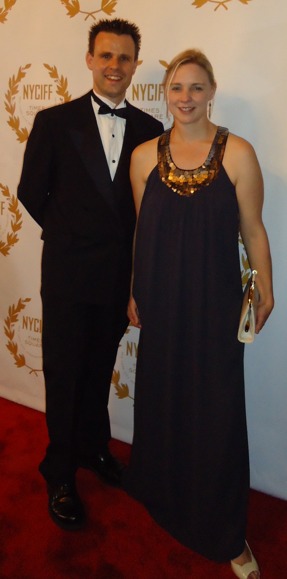
[[[90, 25], [115, 16], [134, 21], [142, 32], [141, 61], [127, 91], [132, 104], [170, 126], [164, 67], [181, 50], [198, 47], [218, 83], [213, 122], [257, 152], [275, 309], [255, 343], [245, 347], [251, 485], [287, 499], [286, 0], [0, 0], [0, 395], [45, 410], [41, 230], [16, 197], [25, 142], [39, 109], [90, 90], [84, 61]], [[244, 255], [241, 265], [245, 276]], [[138, 330], [129, 327], [109, 401], [112, 435], [127, 442], [133, 436], [137, 345]]]

